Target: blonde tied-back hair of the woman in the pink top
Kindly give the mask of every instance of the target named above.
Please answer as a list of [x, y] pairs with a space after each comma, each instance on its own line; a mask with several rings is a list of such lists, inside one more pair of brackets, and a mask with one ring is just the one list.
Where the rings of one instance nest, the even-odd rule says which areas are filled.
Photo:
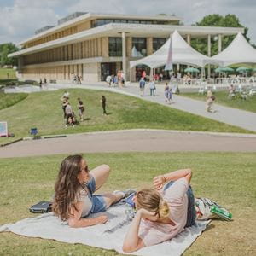
[[170, 210], [159, 192], [155, 189], [142, 189], [137, 192], [137, 207], [144, 208], [149, 212], [155, 212], [160, 218], [169, 216]]

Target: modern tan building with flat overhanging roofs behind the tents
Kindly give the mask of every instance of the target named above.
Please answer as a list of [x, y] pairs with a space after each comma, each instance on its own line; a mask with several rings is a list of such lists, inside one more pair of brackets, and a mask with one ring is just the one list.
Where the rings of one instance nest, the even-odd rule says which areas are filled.
[[18, 57], [22, 79], [69, 82], [74, 74], [85, 82], [105, 80], [108, 74], [123, 70], [127, 80], [135, 80], [136, 68], [129, 61], [151, 55], [177, 30], [190, 44], [191, 38], [211, 40], [244, 32], [241, 27], [183, 26], [174, 15], [104, 15], [74, 13], [56, 26], [38, 29], [34, 36], [20, 42], [21, 49], [9, 56]]

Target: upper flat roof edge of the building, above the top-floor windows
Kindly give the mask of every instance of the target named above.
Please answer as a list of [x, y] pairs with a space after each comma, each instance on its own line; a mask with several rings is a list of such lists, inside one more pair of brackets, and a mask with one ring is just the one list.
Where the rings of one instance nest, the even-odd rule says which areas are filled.
[[31, 38], [27, 38], [24, 41], [21, 41], [20, 45], [26, 44], [30, 41], [44, 38], [46, 35], [51, 34], [53, 32], [60, 32], [63, 28], [68, 28], [69, 26], [78, 25], [79, 23], [84, 22], [85, 20], [96, 20], [96, 19], [119, 19], [119, 20], [160, 20], [160, 21], [173, 21], [173, 20], [182, 20], [175, 15], [154, 15], [154, 16], [141, 16], [141, 15], [116, 15], [116, 14], [100, 14], [100, 13], [86, 13], [84, 15], [80, 15], [77, 18], [72, 20], [68, 20], [67, 22], [61, 23], [60, 25], [56, 25], [53, 28], [50, 28], [47, 31], [38, 33], [37, 35], [33, 35]]

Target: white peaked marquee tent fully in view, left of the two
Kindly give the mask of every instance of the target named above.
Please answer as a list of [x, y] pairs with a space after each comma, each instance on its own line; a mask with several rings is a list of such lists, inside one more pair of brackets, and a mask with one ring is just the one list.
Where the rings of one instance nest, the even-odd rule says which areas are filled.
[[[151, 68], [161, 67], [166, 65], [168, 51], [170, 48], [170, 38], [166, 41], [160, 49], [152, 55], [148, 55], [137, 61], [131, 61], [130, 67], [137, 65], [147, 65]], [[172, 63], [185, 64], [195, 67], [204, 67], [207, 64], [222, 66], [222, 61], [213, 60], [207, 55], [202, 55], [193, 49], [176, 31], [172, 33]]]

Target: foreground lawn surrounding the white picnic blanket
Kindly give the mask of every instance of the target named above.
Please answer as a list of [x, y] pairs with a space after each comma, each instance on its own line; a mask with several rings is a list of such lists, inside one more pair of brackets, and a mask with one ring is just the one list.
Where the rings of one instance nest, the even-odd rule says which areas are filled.
[[[0, 161], [0, 224], [35, 217], [28, 208], [48, 201], [66, 155]], [[117, 153], [86, 154], [90, 168], [106, 163], [111, 175], [101, 191], [151, 186], [152, 177], [191, 167], [196, 196], [217, 201], [233, 213], [233, 221], [213, 220], [184, 255], [255, 255], [255, 153]], [[59, 241], [0, 234], [1, 255], [117, 255], [113, 251]]]

